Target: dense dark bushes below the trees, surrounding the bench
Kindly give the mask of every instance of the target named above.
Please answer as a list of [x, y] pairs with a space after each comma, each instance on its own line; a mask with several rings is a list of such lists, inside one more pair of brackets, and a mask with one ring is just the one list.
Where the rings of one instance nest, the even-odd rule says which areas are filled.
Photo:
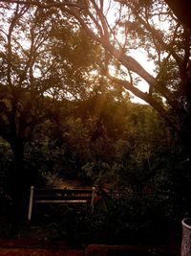
[[[134, 244], [148, 243], [147, 239], [166, 243], [180, 236], [180, 220], [190, 212], [187, 159], [178, 138], [153, 108], [117, 99], [114, 92], [59, 105], [59, 123], [49, 119], [36, 125], [25, 143], [26, 183], [60, 186], [62, 179], [77, 179], [126, 196], [121, 202], [109, 202], [106, 212], [98, 206], [93, 216], [86, 211], [74, 214], [78, 211], [66, 206], [38, 210], [33, 221], [46, 229], [44, 236]], [[1, 198], [3, 215], [11, 224], [1, 229], [6, 237], [16, 232], [26, 236], [14, 222], [13, 201], [8, 197], [14, 166], [11, 147], [1, 139]], [[24, 210], [19, 219], [25, 222]]]

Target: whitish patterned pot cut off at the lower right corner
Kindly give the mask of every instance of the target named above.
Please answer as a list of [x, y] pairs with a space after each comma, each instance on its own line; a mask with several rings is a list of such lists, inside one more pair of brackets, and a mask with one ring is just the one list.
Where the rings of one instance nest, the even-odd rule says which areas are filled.
[[191, 218], [182, 220], [181, 225], [181, 256], [191, 256]]

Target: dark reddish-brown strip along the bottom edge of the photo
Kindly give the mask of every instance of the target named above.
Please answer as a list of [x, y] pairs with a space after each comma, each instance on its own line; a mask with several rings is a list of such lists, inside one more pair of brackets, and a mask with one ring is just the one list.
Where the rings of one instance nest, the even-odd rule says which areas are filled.
[[137, 246], [90, 244], [74, 249], [64, 243], [0, 241], [0, 256], [180, 256], [180, 245]]

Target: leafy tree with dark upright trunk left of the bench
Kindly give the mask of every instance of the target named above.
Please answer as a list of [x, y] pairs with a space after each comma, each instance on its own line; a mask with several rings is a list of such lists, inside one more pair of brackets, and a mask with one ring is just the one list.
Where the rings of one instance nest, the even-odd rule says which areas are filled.
[[[10, 187], [19, 200], [15, 190], [28, 189], [33, 175], [24, 168], [26, 142], [45, 120], [60, 122], [63, 99], [85, 97], [97, 47], [53, 10], [1, 4], [0, 22], [0, 135], [11, 145]], [[74, 58], [84, 44], [86, 55]]]

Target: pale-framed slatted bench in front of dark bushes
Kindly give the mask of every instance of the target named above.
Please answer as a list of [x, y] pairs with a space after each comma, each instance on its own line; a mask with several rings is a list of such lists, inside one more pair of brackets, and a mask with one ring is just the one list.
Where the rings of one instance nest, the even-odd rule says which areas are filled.
[[32, 207], [35, 203], [61, 203], [61, 204], [86, 204], [90, 205], [91, 213], [94, 211], [96, 188], [92, 189], [58, 189], [34, 188], [31, 186], [28, 221], [32, 220]]

